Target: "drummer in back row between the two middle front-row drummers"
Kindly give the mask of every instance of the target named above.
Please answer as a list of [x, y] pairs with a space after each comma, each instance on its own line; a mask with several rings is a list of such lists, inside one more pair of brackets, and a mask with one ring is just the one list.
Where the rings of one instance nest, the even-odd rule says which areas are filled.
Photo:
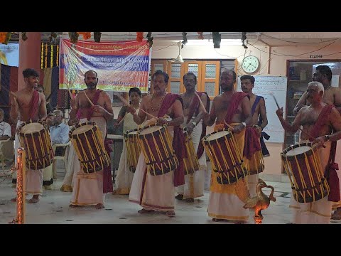
[[[197, 77], [193, 73], [183, 75], [183, 85], [185, 85], [186, 92], [181, 95], [183, 98], [183, 114], [185, 116], [184, 127], [192, 136], [193, 146], [199, 160], [199, 170], [193, 174], [185, 175], [185, 185], [178, 186], [176, 191], [178, 196], [175, 198], [191, 203], [194, 198], [204, 196], [204, 179], [206, 170], [206, 154], [202, 146], [201, 139], [206, 135], [206, 125], [202, 123], [202, 114], [204, 110], [200, 106], [199, 98], [207, 112], [210, 111], [210, 97], [206, 92], [195, 91], [197, 84]], [[188, 156], [192, 157], [192, 156]]]

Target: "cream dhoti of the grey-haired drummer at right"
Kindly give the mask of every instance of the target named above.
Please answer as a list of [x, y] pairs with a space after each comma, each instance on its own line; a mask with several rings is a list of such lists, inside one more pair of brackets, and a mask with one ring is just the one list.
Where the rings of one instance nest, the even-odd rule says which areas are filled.
[[[318, 149], [317, 156], [320, 157], [320, 163], [323, 172], [328, 164], [330, 154], [330, 142], [325, 142], [325, 149]], [[328, 196], [312, 202], [298, 203], [291, 194], [289, 205], [293, 209], [293, 223], [296, 224], [328, 224], [330, 223], [332, 202], [328, 201]]]

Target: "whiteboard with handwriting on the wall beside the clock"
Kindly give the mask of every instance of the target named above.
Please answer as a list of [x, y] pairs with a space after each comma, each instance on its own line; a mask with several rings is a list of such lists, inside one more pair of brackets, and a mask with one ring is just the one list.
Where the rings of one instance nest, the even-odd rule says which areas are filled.
[[[276, 115], [277, 105], [271, 92], [276, 97], [279, 107], [283, 107], [283, 117], [286, 117], [286, 88], [287, 78], [276, 76], [254, 75], [254, 92], [255, 95], [263, 96], [266, 107], [266, 117], [268, 117], [268, 125], [264, 128], [264, 132], [269, 134], [270, 139], [265, 142], [284, 142], [284, 129]], [[242, 92], [240, 87], [240, 76], [237, 79], [237, 91]], [[251, 106], [252, 107], [252, 106]]]

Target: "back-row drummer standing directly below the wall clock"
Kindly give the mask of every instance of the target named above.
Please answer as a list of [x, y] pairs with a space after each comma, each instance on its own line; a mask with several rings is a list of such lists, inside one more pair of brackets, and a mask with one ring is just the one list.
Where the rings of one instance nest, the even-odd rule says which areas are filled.
[[[268, 124], [268, 119], [266, 117], [264, 97], [257, 96], [252, 92], [252, 89], [254, 88], [253, 76], [242, 75], [240, 77], [240, 84], [242, 87], [242, 91], [247, 93], [250, 97], [252, 125], [256, 127], [256, 131], [259, 133], [259, 137], [260, 137], [261, 131]], [[249, 184], [250, 197], [256, 196], [256, 186], [258, 184], [258, 178], [259, 178], [258, 174], [264, 171], [261, 138], [256, 139], [256, 140], [257, 140], [256, 144], [259, 146], [259, 150], [247, 152], [247, 156], [244, 156], [245, 164], [247, 165], [247, 169], [250, 172], [250, 175], [247, 177], [247, 183]], [[250, 157], [251, 159], [249, 159]]]

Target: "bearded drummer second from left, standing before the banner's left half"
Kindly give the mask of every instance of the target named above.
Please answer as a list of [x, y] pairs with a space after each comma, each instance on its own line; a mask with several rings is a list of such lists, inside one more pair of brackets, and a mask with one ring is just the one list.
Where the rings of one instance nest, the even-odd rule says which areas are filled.
[[[89, 70], [85, 73], [87, 89], [79, 92], [75, 99], [71, 100], [72, 110], [70, 119], [79, 119], [82, 122], [95, 122], [102, 132], [102, 139], [107, 134], [107, 120], [114, 116], [112, 101], [107, 92], [97, 89], [97, 73]], [[91, 100], [93, 106], [90, 104]], [[103, 205], [103, 170], [92, 174], [85, 174], [80, 169], [80, 161], [77, 154], [74, 156], [74, 189], [70, 207], [95, 205], [97, 209]]]

